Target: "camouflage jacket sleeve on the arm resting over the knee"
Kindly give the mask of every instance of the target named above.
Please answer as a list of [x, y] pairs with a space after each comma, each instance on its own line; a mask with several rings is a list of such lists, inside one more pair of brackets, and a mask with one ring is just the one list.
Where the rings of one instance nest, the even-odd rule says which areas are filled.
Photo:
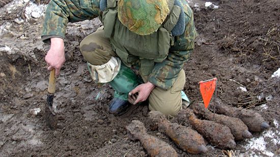
[[149, 82], [163, 89], [172, 87], [185, 62], [189, 59], [194, 48], [194, 39], [197, 37], [192, 10], [187, 4], [183, 5], [186, 20], [184, 34], [175, 37], [175, 43], [171, 46], [167, 58], [162, 62], [156, 62], [148, 77]]

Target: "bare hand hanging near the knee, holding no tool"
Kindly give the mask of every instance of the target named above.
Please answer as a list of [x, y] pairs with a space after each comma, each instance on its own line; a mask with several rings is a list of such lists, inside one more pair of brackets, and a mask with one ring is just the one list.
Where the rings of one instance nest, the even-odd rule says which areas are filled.
[[139, 102], [144, 102], [154, 88], [155, 85], [151, 82], [140, 84], [128, 93], [128, 101], [133, 105]]

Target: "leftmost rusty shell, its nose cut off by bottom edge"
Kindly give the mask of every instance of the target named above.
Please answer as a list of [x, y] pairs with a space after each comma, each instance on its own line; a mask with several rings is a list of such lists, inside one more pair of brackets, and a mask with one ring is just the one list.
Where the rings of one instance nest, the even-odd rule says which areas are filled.
[[147, 134], [146, 128], [141, 121], [132, 120], [132, 122], [126, 126], [126, 130], [128, 137], [131, 140], [139, 140], [151, 157], [178, 156], [176, 150], [172, 148], [172, 146]]

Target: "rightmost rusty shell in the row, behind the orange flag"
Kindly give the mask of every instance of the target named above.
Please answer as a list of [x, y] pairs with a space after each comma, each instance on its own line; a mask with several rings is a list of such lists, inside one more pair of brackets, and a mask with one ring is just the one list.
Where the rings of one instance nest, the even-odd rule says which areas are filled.
[[222, 104], [220, 100], [217, 100], [216, 112], [241, 119], [251, 132], [261, 132], [269, 128], [269, 124], [265, 122], [261, 114], [253, 110]]

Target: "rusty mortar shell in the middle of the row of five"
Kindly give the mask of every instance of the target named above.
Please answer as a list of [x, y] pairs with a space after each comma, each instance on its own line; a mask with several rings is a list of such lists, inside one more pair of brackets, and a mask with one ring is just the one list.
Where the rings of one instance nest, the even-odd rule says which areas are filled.
[[188, 122], [213, 146], [221, 149], [233, 149], [236, 146], [229, 127], [210, 120], [198, 119], [192, 110], [183, 109], [178, 114], [178, 121]]

